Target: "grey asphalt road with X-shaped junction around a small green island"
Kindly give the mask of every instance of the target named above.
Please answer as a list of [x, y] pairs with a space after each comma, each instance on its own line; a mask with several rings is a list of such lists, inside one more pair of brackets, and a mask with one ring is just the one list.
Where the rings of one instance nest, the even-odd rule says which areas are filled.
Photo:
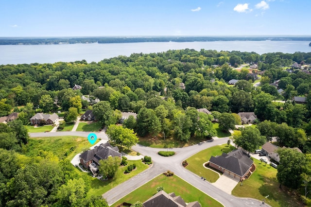
[[[80, 136], [87, 137], [88, 132], [52, 132], [52, 133], [31, 133], [31, 137], [56, 137], [56, 136]], [[105, 133], [96, 133], [98, 138], [108, 139]], [[103, 194], [103, 197], [107, 200], [108, 205], [112, 205], [121, 199], [123, 196], [139, 188], [143, 184], [152, 180], [159, 174], [170, 170], [177, 176], [190, 183], [199, 190], [205, 192], [212, 198], [222, 203], [225, 207], [251, 207], [261, 206], [261, 202], [255, 199], [238, 198], [227, 194], [223, 190], [220, 190], [210, 184], [207, 181], [203, 181], [198, 175], [186, 170], [182, 165], [182, 161], [194, 155], [204, 149], [212, 146], [226, 143], [228, 138], [215, 138], [212, 142], [202, 142], [190, 147], [184, 148], [172, 148], [170, 151], [174, 151], [176, 154], [171, 157], [163, 157], [157, 154], [158, 151], [165, 151], [166, 149], [150, 148], [141, 145], [132, 147], [134, 151], [139, 152], [142, 155], [148, 155], [152, 157], [153, 165], [146, 171], [134, 176], [133, 178], [123, 182], [115, 188], [107, 191]], [[207, 178], [208, 180], [208, 178]]]

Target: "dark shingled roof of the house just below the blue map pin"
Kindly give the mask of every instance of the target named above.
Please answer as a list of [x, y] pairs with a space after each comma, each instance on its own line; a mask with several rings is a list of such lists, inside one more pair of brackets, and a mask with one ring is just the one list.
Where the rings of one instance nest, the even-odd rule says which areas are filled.
[[109, 142], [100, 144], [99, 146], [94, 147], [94, 149], [87, 150], [80, 155], [84, 161], [88, 162], [93, 160], [97, 164], [99, 164], [99, 160], [107, 159], [108, 156], [121, 156], [121, 153], [119, 153], [119, 148], [112, 147]]

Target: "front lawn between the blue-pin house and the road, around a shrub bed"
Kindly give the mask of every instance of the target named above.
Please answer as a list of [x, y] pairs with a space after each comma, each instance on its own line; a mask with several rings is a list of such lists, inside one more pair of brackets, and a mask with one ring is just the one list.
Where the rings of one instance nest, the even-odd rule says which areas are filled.
[[[123, 172], [125, 171], [127, 166], [133, 163], [136, 164], [136, 170], [133, 170], [131, 173], [124, 174]], [[88, 176], [90, 180], [91, 189], [87, 192], [86, 197], [89, 198], [92, 195], [102, 195], [108, 190], [116, 187], [117, 185], [123, 183], [124, 181], [130, 179], [131, 177], [134, 177], [135, 175], [148, 169], [148, 165], [141, 162], [141, 160], [128, 160], [128, 165], [120, 167], [116, 175], [112, 179], [106, 181], [102, 181], [97, 178], [93, 178], [92, 176]], [[77, 171], [79, 170], [77, 169]], [[82, 173], [81, 171], [79, 171], [79, 173], [86, 174]]]

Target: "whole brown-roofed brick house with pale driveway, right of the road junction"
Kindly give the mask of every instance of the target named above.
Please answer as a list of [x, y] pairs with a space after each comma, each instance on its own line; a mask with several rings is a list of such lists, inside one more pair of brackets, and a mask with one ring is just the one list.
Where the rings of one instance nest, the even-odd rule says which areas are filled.
[[211, 156], [209, 166], [219, 170], [230, 177], [242, 181], [253, 166], [253, 160], [241, 149], [236, 149], [228, 154]]

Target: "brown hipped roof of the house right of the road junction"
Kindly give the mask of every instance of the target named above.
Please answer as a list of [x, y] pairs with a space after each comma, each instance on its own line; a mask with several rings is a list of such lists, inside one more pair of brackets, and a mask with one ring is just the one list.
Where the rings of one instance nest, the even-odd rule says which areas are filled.
[[209, 162], [241, 177], [248, 172], [253, 164], [253, 160], [240, 149], [233, 150], [228, 154], [223, 153], [222, 155], [211, 156]]

